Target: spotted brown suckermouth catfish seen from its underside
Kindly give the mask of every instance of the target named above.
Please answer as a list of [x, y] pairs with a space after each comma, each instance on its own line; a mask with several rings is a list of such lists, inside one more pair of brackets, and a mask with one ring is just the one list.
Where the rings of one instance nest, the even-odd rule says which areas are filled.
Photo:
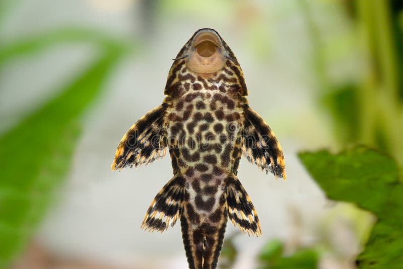
[[261, 228], [237, 178], [245, 157], [286, 179], [282, 148], [249, 105], [243, 72], [219, 33], [197, 30], [173, 59], [162, 104], [120, 140], [112, 170], [171, 157], [173, 177], [153, 199], [141, 228], [163, 232], [179, 220], [189, 268], [216, 268], [228, 219], [249, 236]]

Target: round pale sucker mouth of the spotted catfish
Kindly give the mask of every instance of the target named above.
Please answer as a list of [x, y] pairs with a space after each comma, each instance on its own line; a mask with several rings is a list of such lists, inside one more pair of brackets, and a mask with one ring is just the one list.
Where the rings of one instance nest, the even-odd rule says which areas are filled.
[[220, 37], [211, 30], [202, 30], [193, 38], [186, 58], [188, 69], [199, 74], [221, 70], [226, 62]]

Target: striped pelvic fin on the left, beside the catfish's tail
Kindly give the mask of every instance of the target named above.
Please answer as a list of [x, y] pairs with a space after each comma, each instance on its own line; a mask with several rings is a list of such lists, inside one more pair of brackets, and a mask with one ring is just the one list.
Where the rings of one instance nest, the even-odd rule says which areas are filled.
[[170, 223], [171, 227], [175, 225], [181, 216], [185, 200], [184, 184], [185, 179], [178, 175], [165, 184], [147, 210], [141, 229], [163, 232]]

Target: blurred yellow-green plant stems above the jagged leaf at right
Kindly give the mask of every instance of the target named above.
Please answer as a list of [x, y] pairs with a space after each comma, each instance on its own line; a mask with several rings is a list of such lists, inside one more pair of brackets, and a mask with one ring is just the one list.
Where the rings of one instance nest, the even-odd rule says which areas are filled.
[[[365, 67], [348, 82], [331, 79], [331, 49], [323, 46], [311, 1], [298, 2], [310, 35], [318, 100], [331, 115], [341, 148], [365, 144], [396, 158], [403, 168], [403, 1], [337, 1], [354, 26], [354, 51]], [[340, 14], [339, 16], [342, 16]], [[344, 40], [344, 39], [343, 39]], [[342, 55], [343, 56], [343, 55]]]

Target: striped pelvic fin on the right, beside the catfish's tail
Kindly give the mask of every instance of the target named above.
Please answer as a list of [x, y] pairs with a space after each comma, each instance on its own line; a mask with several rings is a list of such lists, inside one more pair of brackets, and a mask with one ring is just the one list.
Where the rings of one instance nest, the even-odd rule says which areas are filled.
[[234, 176], [227, 179], [226, 199], [228, 218], [234, 226], [248, 235], [261, 235], [259, 218], [252, 201], [241, 182]]

